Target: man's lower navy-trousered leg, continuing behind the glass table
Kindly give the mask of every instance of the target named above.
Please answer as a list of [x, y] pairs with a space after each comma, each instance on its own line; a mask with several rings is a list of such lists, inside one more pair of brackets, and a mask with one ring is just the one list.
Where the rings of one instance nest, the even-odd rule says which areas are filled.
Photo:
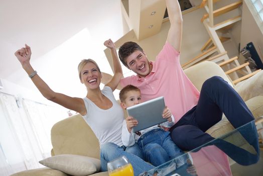
[[[245, 133], [247, 133], [247, 128], [251, 130], [251, 128], [249, 127], [249, 125], [251, 124], [248, 124], [248, 126], [246, 126], [246, 129], [244, 129]], [[242, 133], [241, 130], [239, 131], [240, 133]], [[249, 133], [247, 134], [249, 135]], [[174, 128], [174, 130], [172, 131], [172, 139], [183, 150], [196, 149], [193, 152], [198, 152], [198, 150], [201, 149], [200, 146], [202, 145], [202, 147], [205, 147], [207, 145], [215, 145], [230, 158], [241, 165], [254, 164], [259, 159], [259, 152], [257, 152], [256, 154], [252, 154], [249, 151], [242, 149], [223, 139], [214, 139], [209, 134], [204, 133], [202, 130], [194, 125], [182, 125]]]

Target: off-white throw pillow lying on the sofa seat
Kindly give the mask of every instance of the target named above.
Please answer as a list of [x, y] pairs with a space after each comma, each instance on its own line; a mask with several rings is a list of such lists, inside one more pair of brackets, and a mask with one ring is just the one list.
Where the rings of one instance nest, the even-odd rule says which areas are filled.
[[100, 170], [99, 159], [74, 154], [51, 156], [39, 163], [74, 176], [89, 175]]

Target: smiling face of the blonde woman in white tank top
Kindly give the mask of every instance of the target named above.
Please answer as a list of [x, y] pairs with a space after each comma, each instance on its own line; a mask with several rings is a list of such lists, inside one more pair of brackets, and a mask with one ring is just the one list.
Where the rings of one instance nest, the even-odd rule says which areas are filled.
[[86, 63], [80, 71], [80, 76], [81, 83], [84, 83], [87, 89], [92, 90], [99, 88], [101, 74], [98, 67], [94, 63]]

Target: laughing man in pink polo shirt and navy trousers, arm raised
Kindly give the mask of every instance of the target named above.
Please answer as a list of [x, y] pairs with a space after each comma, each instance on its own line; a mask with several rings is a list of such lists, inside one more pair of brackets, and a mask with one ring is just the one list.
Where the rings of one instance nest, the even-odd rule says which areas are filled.
[[[207, 79], [200, 93], [187, 78], [179, 61], [182, 13], [178, 1], [166, 0], [166, 3], [171, 27], [163, 49], [155, 62], [149, 62], [146, 53], [137, 43], [126, 42], [120, 46], [120, 61], [137, 74], [122, 78], [120, 85], [132, 84], [139, 87], [143, 101], [164, 96], [166, 105], [175, 117], [175, 125], [170, 128], [173, 141], [183, 150], [192, 150], [214, 139], [205, 131], [219, 122], [223, 113], [234, 128], [254, 118], [240, 96], [221, 77]], [[250, 161], [236, 160], [243, 165], [255, 163], [259, 159], [254, 125], [251, 126], [251, 133], [252, 138], [242, 135], [254, 147], [257, 155], [253, 155]], [[224, 147], [229, 147], [225, 145], [228, 144], [217, 146], [224, 151]], [[226, 153], [231, 155], [231, 152]]]

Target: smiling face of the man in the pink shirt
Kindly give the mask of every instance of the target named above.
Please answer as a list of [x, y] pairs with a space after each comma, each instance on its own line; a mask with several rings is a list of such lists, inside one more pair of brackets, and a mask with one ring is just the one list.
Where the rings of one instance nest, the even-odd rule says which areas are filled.
[[126, 59], [127, 67], [141, 77], [147, 76], [152, 67], [146, 54], [140, 50], [131, 53]]

